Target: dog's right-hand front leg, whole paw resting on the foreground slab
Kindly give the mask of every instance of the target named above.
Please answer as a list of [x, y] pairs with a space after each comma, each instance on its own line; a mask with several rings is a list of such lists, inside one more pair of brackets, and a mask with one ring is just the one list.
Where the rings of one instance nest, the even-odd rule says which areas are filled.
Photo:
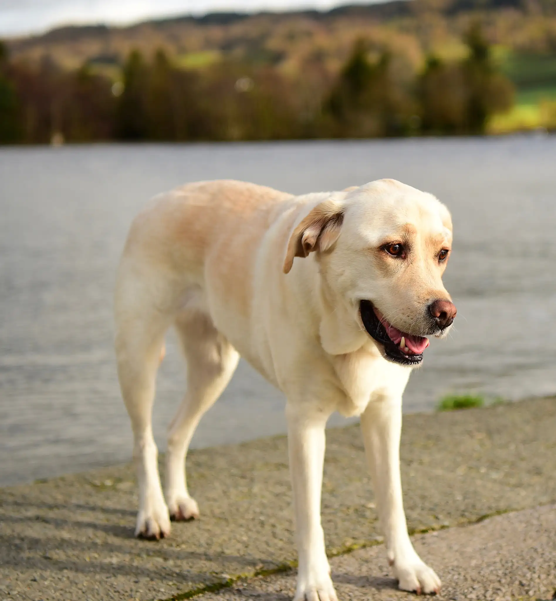
[[417, 593], [438, 593], [440, 580], [415, 552], [403, 510], [400, 478], [402, 399], [383, 398], [371, 402], [361, 416], [361, 430], [388, 561], [400, 588]]

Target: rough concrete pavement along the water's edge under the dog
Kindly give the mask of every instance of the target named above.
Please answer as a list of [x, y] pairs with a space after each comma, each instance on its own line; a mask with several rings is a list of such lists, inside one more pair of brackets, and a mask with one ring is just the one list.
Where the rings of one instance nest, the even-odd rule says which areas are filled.
[[[358, 427], [350, 426], [328, 430], [327, 439], [326, 543], [330, 554], [342, 556], [334, 566], [345, 566], [343, 578], [355, 582], [340, 582], [338, 590], [347, 587], [346, 598], [359, 591], [373, 599], [376, 587], [361, 583], [390, 577], [380, 564], [383, 550], [372, 546], [380, 533], [361, 436]], [[402, 477], [411, 531], [461, 526], [499, 512], [553, 504], [555, 474], [555, 398], [404, 417]], [[225, 599], [237, 593], [221, 588], [223, 584], [261, 573], [265, 577], [252, 582], [279, 583], [272, 595], [282, 596], [267, 599], [290, 594], [292, 573], [285, 573], [283, 581], [268, 575], [289, 569], [295, 560], [286, 439], [192, 451], [188, 479], [201, 519], [174, 523], [171, 537], [157, 543], [133, 538], [137, 496], [130, 465], [0, 489], [0, 599], [147, 600], [197, 594], [209, 599], [207, 587]], [[535, 528], [542, 532], [554, 513], [539, 511], [531, 519], [540, 520]], [[501, 518], [488, 523], [506, 523]], [[424, 540], [444, 540], [463, 531], [438, 532], [439, 539], [428, 534]], [[506, 536], [499, 535], [501, 544]], [[545, 552], [550, 539], [539, 540]], [[368, 548], [349, 553], [359, 546]], [[435, 553], [432, 543], [427, 554], [429, 549]], [[364, 567], [367, 560], [350, 563], [358, 554], [375, 553], [378, 563], [369, 559], [368, 566], [376, 568]], [[437, 571], [449, 582], [449, 576]], [[464, 571], [475, 582], [476, 570]], [[540, 584], [528, 586], [527, 598], [546, 595]], [[509, 587], [504, 584], [501, 594], [515, 598]], [[397, 598], [391, 588], [385, 594]]]

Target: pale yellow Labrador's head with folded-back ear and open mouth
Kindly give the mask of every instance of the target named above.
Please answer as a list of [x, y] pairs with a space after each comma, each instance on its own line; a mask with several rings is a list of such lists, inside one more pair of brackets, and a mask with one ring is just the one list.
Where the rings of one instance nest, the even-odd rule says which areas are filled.
[[284, 272], [315, 252], [323, 304], [346, 322], [335, 328], [362, 326], [386, 359], [415, 366], [427, 337], [444, 337], [456, 317], [442, 284], [451, 242], [435, 197], [378, 180], [314, 207], [293, 230]]

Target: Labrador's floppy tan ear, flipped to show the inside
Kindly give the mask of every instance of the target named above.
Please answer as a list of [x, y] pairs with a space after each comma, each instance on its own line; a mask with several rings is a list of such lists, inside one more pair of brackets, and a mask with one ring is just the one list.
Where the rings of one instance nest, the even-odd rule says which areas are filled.
[[307, 257], [310, 252], [327, 251], [340, 236], [344, 207], [329, 198], [317, 204], [293, 230], [288, 242], [284, 273], [292, 269], [294, 257]]

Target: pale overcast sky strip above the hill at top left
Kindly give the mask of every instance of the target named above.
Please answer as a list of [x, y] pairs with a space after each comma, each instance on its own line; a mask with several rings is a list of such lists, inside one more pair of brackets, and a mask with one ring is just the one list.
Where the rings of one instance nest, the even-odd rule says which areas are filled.
[[[361, 0], [359, 0], [361, 1]], [[368, 2], [369, 0], [367, 0]], [[372, 1], [372, 0], [371, 0]], [[366, 3], [366, 2], [365, 2]], [[255, 11], [330, 8], [349, 0], [0, 0], [0, 35], [45, 31], [69, 23], [132, 23], [150, 17], [204, 14], [216, 10]]]

